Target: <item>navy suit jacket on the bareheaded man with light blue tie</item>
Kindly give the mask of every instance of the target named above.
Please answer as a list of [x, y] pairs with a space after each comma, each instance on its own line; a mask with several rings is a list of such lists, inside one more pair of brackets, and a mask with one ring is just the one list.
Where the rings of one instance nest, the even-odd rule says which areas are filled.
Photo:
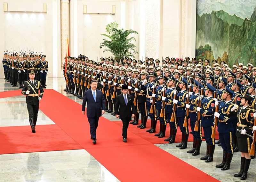
[[82, 105], [82, 111], [85, 111], [85, 105], [87, 102], [87, 117], [93, 118], [95, 115], [97, 117], [101, 116], [101, 111], [105, 111], [105, 99], [103, 93], [100, 90], [96, 90], [96, 102], [92, 95], [92, 89], [84, 92], [84, 100]]

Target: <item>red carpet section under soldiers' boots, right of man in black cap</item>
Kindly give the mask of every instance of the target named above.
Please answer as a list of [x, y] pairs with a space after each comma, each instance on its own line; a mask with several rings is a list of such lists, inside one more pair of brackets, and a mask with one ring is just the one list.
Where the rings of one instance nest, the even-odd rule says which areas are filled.
[[[122, 121], [114, 121], [114, 123], [116, 123], [117, 125], [123, 127]], [[141, 122], [139, 120], [139, 124], [140, 123]], [[128, 131], [132, 132], [135, 135], [138, 135], [139, 137], [141, 137], [141, 138], [143, 138], [143, 139], [145, 139], [148, 142], [153, 143], [153, 144], [168, 143], [168, 142], [164, 142], [164, 139], [168, 138], [169, 135], [170, 135], [169, 123], [167, 123], [167, 127], [166, 127], [165, 137], [164, 138], [158, 138], [157, 136], [154, 136], [155, 134], [157, 134], [159, 132], [159, 128], [160, 128], [159, 121], [157, 121], [156, 133], [152, 133], [152, 134], [149, 134], [148, 132], [146, 132], [146, 130], [148, 130], [150, 128], [150, 120], [147, 121], [147, 128], [145, 128], [145, 129], [137, 128], [137, 126], [138, 125], [134, 126], [132, 124], [129, 124]], [[188, 124], [188, 130], [191, 131], [191, 128], [190, 128], [189, 124]], [[202, 131], [202, 135], [204, 136], [204, 132], [203, 131]], [[127, 137], [129, 137], [129, 136], [127, 136]], [[219, 133], [218, 132], [216, 132], [216, 138], [215, 139], [219, 140]], [[205, 140], [203, 139], [203, 141], [205, 141]], [[175, 138], [175, 143], [180, 143], [180, 142], [181, 142], [181, 132], [180, 132], [180, 128], [178, 127], [176, 138]], [[189, 134], [188, 142], [193, 142], [193, 135], [192, 134]]]

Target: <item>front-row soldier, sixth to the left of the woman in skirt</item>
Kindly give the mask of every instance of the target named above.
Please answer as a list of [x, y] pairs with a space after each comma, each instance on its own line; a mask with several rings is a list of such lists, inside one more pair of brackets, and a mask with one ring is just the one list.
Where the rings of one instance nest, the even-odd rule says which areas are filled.
[[[163, 110], [163, 117], [160, 117], [161, 109], [162, 109], [162, 95], [163, 92], [165, 92], [165, 84], [164, 80], [167, 80], [163, 74], [159, 77], [159, 85], [156, 88], [156, 93], [152, 93], [152, 97], [156, 98], [156, 110], [157, 110], [157, 117], [159, 118], [160, 122], [160, 131], [155, 136], [158, 136], [158, 138], [165, 137], [165, 130], [166, 130], [166, 120], [165, 120], [165, 113]], [[164, 108], [165, 109], [165, 108]]]

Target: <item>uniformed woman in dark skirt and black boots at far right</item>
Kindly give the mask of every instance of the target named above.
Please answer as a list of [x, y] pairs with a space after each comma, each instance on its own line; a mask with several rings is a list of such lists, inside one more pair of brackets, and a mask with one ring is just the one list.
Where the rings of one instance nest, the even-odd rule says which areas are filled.
[[[251, 163], [250, 157], [250, 147], [252, 143], [252, 138], [246, 134], [251, 135], [251, 127], [253, 126], [252, 122], [254, 119], [255, 110], [249, 108], [249, 103], [252, 101], [252, 97], [248, 94], [244, 94], [241, 100], [242, 107], [237, 105], [233, 106], [232, 109], [228, 112], [228, 117], [236, 116], [237, 126], [236, 126], [236, 136], [238, 142], [238, 148], [241, 152], [241, 165], [240, 171], [238, 174], [235, 174], [235, 177], [241, 177], [241, 180], [247, 178], [247, 171]], [[256, 116], [256, 114], [255, 114]], [[239, 131], [238, 131], [239, 130]]]

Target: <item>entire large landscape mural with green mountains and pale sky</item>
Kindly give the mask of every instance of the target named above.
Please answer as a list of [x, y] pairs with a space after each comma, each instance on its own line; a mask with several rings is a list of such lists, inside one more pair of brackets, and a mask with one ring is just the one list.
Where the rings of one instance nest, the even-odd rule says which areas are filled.
[[256, 1], [197, 0], [196, 58], [256, 65]]

